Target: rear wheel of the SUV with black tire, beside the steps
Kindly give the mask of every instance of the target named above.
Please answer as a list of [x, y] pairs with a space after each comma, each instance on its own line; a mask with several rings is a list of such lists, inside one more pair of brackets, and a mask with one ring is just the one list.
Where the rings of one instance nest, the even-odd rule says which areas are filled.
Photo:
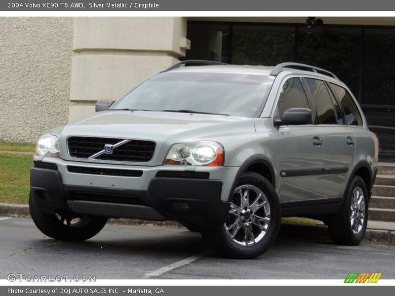
[[[361, 194], [363, 196], [360, 196]], [[355, 207], [355, 204], [358, 206]], [[358, 245], [366, 232], [368, 214], [369, 199], [365, 182], [361, 177], [354, 176], [347, 188], [339, 213], [334, 215], [328, 223], [329, 235], [333, 242], [339, 245]], [[362, 215], [363, 218], [361, 218]], [[357, 218], [352, 220], [353, 217]]]

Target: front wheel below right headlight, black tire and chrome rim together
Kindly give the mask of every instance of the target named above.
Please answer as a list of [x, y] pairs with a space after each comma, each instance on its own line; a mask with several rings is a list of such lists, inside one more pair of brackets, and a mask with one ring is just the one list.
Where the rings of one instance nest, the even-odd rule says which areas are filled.
[[[247, 190], [248, 199], [243, 198]], [[263, 194], [260, 198], [259, 192]], [[245, 201], [248, 201], [248, 208]], [[275, 188], [263, 176], [246, 172], [241, 176], [231, 202], [227, 222], [203, 230], [203, 239], [214, 252], [224, 257], [252, 259], [262, 255], [275, 242], [280, 227], [280, 206]]]

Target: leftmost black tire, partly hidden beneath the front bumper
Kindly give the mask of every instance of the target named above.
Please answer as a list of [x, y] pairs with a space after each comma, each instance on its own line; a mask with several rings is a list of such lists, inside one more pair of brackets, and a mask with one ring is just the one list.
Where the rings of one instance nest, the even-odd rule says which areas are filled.
[[62, 241], [84, 241], [95, 236], [106, 225], [107, 218], [84, 217], [63, 211], [56, 214], [42, 213], [29, 195], [29, 209], [37, 228], [51, 238]]

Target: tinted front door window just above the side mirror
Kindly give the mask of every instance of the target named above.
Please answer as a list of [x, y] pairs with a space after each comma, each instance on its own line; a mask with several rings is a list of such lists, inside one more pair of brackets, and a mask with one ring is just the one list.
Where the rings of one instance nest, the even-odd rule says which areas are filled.
[[284, 111], [290, 108], [310, 109], [306, 93], [298, 77], [288, 79], [282, 86], [275, 117], [281, 119]]

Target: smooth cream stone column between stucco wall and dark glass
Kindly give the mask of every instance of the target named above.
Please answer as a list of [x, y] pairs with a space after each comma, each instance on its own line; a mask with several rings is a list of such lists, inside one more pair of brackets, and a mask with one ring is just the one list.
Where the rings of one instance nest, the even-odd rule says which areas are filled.
[[75, 18], [69, 120], [178, 62], [190, 48], [186, 34], [183, 17]]

